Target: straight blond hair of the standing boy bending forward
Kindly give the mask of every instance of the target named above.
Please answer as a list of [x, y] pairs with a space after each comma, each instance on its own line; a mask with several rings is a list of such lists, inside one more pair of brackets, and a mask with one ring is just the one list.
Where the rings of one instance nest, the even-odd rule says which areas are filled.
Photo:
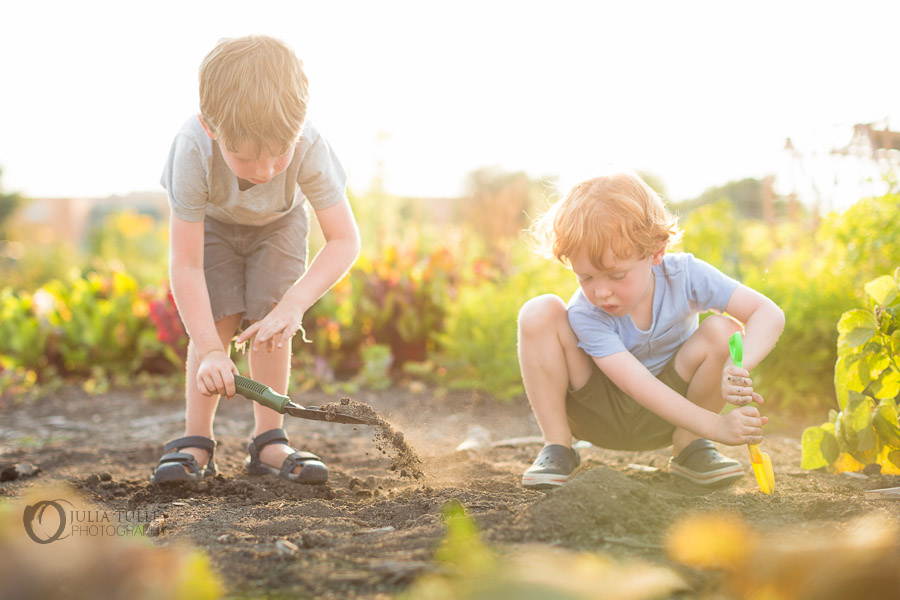
[[221, 39], [200, 64], [200, 116], [231, 152], [284, 154], [300, 137], [308, 101], [303, 63], [281, 40]]

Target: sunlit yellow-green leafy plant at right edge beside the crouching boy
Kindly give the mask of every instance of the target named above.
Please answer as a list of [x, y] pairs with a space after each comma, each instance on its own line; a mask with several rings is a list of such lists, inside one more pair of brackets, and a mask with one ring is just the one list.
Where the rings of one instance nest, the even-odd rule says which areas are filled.
[[803, 432], [804, 469], [855, 471], [877, 464], [900, 475], [900, 268], [865, 285], [869, 308], [838, 322], [834, 386], [840, 411]]

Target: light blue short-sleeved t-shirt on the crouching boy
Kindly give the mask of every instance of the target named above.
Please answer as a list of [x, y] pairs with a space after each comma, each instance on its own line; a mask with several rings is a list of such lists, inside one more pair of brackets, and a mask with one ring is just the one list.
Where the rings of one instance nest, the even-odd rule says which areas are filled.
[[614, 317], [591, 304], [581, 288], [569, 300], [569, 324], [578, 347], [602, 358], [631, 352], [659, 375], [678, 348], [697, 330], [700, 313], [724, 312], [738, 282], [693, 254], [673, 252], [654, 265], [653, 321], [647, 331], [631, 317]]

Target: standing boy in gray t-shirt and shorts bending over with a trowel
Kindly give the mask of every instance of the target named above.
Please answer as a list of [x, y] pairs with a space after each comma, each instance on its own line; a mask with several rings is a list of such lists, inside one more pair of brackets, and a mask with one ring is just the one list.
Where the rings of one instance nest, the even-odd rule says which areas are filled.
[[[306, 118], [307, 79], [283, 42], [220, 40], [200, 67], [200, 114], [172, 144], [161, 183], [171, 208], [170, 278], [190, 337], [185, 435], [154, 483], [216, 473], [213, 418], [235, 394], [231, 341], [250, 340], [250, 376], [287, 393], [303, 314], [359, 255], [346, 175]], [[308, 201], [326, 243], [307, 269]], [[254, 404], [251, 474], [321, 484], [319, 457], [292, 448], [282, 416]], [[201, 465], [205, 465], [202, 466]]]

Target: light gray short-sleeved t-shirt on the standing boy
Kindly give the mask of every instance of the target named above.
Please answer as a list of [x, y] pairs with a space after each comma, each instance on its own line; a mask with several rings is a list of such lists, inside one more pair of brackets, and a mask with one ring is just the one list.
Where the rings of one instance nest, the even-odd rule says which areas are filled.
[[288, 168], [271, 181], [241, 191], [219, 145], [195, 115], [175, 136], [160, 183], [180, 219], [197, 222], [210, 217], [259, 226], [284, 216], [304, 196], [316, 210], [341, 202], [346, 198], [347, 175], [331, 146], [307, 121]]

